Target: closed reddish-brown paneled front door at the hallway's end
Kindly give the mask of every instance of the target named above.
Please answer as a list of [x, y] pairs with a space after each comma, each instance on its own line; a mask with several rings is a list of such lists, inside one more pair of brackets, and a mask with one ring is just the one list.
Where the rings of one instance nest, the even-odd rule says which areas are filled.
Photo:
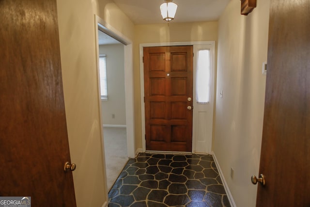
[[192, 150], [193, 47], [143, 48], [146, 150]]

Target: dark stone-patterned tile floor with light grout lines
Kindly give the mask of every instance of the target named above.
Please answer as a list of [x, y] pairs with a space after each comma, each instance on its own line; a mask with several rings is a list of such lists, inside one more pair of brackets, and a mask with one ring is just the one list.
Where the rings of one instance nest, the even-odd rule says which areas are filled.
[[230, 207], [210, 155], [141, 153], [129, 159], [109, 207]]

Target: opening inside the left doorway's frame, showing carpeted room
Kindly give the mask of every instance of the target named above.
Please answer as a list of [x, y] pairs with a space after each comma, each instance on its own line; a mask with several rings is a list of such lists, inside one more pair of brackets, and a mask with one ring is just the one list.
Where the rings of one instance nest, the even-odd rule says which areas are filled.
[[128, 161], [124, 45], [98, 30], [101, 119], [108, 189]]

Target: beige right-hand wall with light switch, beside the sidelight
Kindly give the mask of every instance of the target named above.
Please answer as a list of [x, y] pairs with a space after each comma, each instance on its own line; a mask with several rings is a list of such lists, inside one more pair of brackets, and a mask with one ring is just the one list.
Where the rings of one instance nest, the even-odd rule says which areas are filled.
[[259, 173], [268, 21], [269, 0], [259, 0], [248, 16], [240, 15], [240, 0], [231, 0], [218, 22], [213, 149], [237, 207], [256, 203], [250, 176]]

